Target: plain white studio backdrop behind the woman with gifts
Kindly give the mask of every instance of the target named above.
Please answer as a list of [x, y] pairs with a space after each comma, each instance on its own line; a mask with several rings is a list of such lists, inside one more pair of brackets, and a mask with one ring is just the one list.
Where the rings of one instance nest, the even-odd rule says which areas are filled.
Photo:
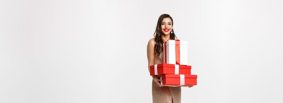
[[282, 4], [1, 0], [0, 102], [152, 102], [146, 46], [170, 14], [198, 75], [183, 103], [282, 103]]

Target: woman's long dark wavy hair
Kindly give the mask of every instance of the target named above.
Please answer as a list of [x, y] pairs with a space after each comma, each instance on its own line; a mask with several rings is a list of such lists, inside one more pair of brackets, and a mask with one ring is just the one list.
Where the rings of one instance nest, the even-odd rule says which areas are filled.
[[[173, 19], [170, 15], [162, 14], [162, 15], [159, 16], [158, 21], [157, 21], [157, 25], [156, 25], [156, 29], [155, 29], [155, 32], [153, 34], [153, 36], [155, 37], [154, 41], [156, 42], [156, 44], [154, 45], [154, 50], [155, 50], [155, 53], [157, 53], [158, 55], [160, 55], [160, 53], [163, 51], [162, 44], [165, 41], [161, 38], [161, 35], [162, 35], [161, 24], [162, 24], [162, 21], [163, 21], [164, 18], [170, 18], [171, 21], [172, 21], [172, 26], [173, 26]], [[172, 29], [172, 33], [171, 33], [171, 31], [169, 31], [169, 32], [170, 32], [170, 39], [175, 40], [176, 35], [174, 33], [174, 30]]]

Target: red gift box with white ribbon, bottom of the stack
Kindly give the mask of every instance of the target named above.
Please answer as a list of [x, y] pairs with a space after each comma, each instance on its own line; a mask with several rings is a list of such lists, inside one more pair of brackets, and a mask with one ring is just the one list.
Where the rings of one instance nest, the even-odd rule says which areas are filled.
[[171, 87], [188, 87], [196, 85], [197, 75], [187, 75], [187, 74], [163, 74], [160, 79], [163, 82], [160, 82], [161, 85], [171, 86]]

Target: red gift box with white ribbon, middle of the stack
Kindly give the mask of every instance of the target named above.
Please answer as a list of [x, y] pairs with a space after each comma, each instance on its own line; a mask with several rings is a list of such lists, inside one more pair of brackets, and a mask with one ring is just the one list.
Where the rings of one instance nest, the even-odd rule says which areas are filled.
[[191, 74], [191, 66], [178, 64], [156, 64], [149, 67], [150, 75]]

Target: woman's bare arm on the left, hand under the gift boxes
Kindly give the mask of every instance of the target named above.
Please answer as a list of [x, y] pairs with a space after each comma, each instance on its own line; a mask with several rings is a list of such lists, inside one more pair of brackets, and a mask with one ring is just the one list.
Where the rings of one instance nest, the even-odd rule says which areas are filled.
[[[152, 38], [148, 41], [148, 46], [147, 46], [148, 72], [150, 72], [149, 66], [154, 65], [154, 56], [155, 56], [154, 45], [155, 45], [155, 41], [154, 38]], [[156, 82], [158, 87], [162, 87], [162, 85], [158, 82], [158, 81], [162, 81], [159, 79], [159, 77], [160, 76], [152, 76], [153, 80]]]

